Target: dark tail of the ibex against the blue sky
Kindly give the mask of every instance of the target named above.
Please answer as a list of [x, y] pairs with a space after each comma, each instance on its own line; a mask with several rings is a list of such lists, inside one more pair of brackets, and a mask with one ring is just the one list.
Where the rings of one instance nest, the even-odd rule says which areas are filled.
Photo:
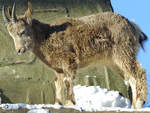
[[139, 44], [140, 44], [141, 48], [145, 51], [143, 43], [148, 40], [147, 35], [133, 21], [130, 21], [130, 23], [135, 28], [135, 30], [137, 31], [137, 33], [139, 33]]

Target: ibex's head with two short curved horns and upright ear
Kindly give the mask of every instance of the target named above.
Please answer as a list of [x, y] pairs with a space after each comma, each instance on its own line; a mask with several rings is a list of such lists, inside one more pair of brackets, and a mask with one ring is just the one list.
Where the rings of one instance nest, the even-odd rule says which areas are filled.
[[27, 50], [32, 49], [33, 44], [33, 31], [32, 31], [32, 17], [31, 17], [31, 3], [28, 1], [28, 10], [22, 16], [16, 16], [16, 5], [14, 3], [10, 12], [11, 18], [9, 19], [5, 13], [3, 6], [2, 15], [5, 25], [10, 36], [14, 40], [15, 48], [18, 54], [23, 54]]

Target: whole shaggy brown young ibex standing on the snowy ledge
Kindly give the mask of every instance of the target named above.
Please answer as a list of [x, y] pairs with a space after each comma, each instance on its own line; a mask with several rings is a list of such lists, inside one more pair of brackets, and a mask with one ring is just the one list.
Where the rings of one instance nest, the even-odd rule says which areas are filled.
[[32, 18], [30, 2], [23, 16], [16, 16], [15, 8], [14, 4], [11, 19], [2, 9], [7, 30], [18, 54], [31, 50], [55, 71], [56, 104], [75, 104], [72, 87], [77, 69], [99, 61], [119, 70], [131, 86], [132, 107], [142, 107], [147, 97], [146, 76], [136, 56], [147, 37], [136, 24], [112, 12], [46, 24]]

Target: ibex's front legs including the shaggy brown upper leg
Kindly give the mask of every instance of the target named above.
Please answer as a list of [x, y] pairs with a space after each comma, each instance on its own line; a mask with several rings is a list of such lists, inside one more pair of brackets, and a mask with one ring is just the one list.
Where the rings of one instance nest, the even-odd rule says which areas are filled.
[[[67, 56], [69, 55], [69, 56]], [[56, 72], [56, 103], [74, 105], [73, 84], [77, 70], [76, 57], [71, 53], [61, 59], [62, 72]]]

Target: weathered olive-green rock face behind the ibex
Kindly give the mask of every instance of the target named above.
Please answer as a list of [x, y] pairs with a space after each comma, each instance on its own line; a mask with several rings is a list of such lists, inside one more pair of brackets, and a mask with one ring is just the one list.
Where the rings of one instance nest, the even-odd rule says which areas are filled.
[[[26, 0], [16, 0], [17, 13], [23, 14]], [[0, 1], [2, 6], [3, 2]], [[12, 0], [4, 1], [11, 5]], [[68, 8], [71, 17], [92, 13], [112, 11], [110, 0], [32, 0], [34, 17], [48, 22], [66, 16], [64, 8]], [[50, 10], [45, 10], [50, 9]], [[43, 10], [43, 11], [39, 11]], [[89, 76], [86, 76], [89, 75]], [[93, 75], [93, 76], [91, 76]], [[109, 68], [100, 65], [80, 69], [76, 84], [100, 85], [110, 90], [118, 90], [129, 97], [128, 88], [123, 80]], [[53, 103], [55, 86], [54, 73], [31, 52], [18, 56], [13, 40], [4, 27], [0, 13], [0, 96], [3, 103]]]

